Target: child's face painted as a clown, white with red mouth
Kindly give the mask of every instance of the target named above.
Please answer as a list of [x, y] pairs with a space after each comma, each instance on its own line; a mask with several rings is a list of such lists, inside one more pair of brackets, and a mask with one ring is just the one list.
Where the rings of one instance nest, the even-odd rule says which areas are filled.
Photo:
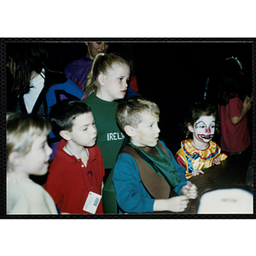
[[212, 115], [201, 116], [195, 121], [193, 128], [193, 139], [201, 143], [209, 143], [215, 132], [215, 118]]

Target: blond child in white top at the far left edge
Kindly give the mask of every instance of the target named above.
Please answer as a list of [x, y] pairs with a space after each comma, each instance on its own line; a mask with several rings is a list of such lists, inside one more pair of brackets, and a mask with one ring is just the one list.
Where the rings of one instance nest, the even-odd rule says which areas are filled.
[[47, 173], [49, 121], [24, 113], [8, 113], [6, 120], [7, 214], [57, 214], [49, 194], [29, 178]]

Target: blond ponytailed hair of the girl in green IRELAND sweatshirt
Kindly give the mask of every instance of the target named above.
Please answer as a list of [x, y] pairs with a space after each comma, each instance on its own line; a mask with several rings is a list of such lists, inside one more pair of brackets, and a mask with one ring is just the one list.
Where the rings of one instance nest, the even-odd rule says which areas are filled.
[[86, 79], [86, 94], [90, 96], [90, 94], [96, 92], [100, 86], [98, 81], [98, 76], [102, 74], [107, 74], [109, 70], [113, 69], [113, 65], [126, 65], [129, 67], [129, 63], [125, 61], [125, 59], [121, 58], [119, 55], [114, 54], [104, 54], [100, 53], [96, 55], [94, 58], [92, 65], [90, 67], [90, 71], [88, 73]]

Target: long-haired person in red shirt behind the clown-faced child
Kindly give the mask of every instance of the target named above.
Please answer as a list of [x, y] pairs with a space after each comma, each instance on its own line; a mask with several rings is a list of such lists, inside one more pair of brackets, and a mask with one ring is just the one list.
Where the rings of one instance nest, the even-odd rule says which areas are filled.
[[221, 124], [221, 148], [232, 154], [240, 154], [251, 144], [247, 111], [251, 109], [253, 95], [247, 96], [242, 84], [241, 62], [227, 58], [222, 68], [223, 81], [219, 87], [218, 115]]

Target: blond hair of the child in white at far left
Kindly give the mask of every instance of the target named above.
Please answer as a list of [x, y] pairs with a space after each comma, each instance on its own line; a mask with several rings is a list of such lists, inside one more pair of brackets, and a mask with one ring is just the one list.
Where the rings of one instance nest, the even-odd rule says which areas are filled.
[[32, 148], [32, 143], [38, 136], [47, 136], [50, 124], [39, 115], [25, 113], [6, 114], [6, 158], [9, 169], [9, 154], [18, 152], [26, 155]]

